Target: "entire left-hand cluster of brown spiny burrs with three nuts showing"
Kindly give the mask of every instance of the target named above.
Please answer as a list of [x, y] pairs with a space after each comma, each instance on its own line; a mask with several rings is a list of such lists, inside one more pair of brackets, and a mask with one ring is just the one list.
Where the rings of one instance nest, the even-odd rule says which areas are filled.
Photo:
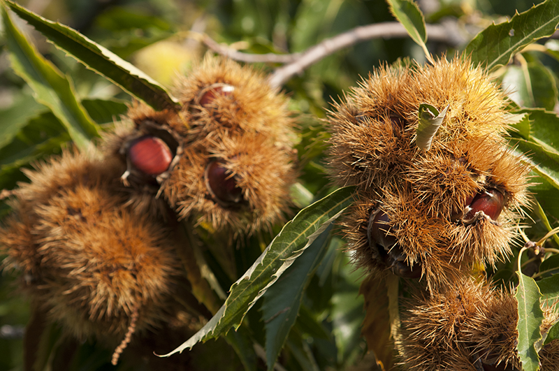
[[254, 233], [289, 208], [293, 118], [266, 77], [207, 57], [176, 95], [180, 110], [135, 103], [99, 150], [66, 150], [15, 190], [3, 265], [71, 335], [198, 326], [210, 312], [190, 292], [180, 220]]

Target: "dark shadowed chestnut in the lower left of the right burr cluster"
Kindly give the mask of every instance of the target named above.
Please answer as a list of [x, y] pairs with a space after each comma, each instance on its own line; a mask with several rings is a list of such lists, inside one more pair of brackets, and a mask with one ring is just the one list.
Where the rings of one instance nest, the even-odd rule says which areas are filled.
[[[389, 235], [390, 218], [382, 211], [373, 211], [367, 226], [367, 240], [371, 249], [377, 249], [384, 263], [395, 275], [405, 278], [421, 277], [421, 265], [410, 267], [406, 262], [404, 250], [394, 235]], [[414, 269], [415, 268], [415, 269]]]

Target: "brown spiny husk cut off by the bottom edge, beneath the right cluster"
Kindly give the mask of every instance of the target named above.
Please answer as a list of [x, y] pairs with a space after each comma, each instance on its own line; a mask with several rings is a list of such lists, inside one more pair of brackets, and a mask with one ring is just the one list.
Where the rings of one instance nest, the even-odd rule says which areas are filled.
[[463, 277], [432, 294], [419, 293], [402, 314], [402, 365], [419, 371], [520, 369], [511, 293]]

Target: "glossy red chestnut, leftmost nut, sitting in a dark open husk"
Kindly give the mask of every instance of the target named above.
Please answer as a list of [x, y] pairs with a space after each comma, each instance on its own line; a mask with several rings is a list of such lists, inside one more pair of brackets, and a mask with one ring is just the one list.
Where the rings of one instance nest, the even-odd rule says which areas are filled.
[[133, 140], [127, 154], [135, 168], [152, 176], [166, 172], [173, 161], [173, 153], [168, 145], [156, 136], [141, 136]]

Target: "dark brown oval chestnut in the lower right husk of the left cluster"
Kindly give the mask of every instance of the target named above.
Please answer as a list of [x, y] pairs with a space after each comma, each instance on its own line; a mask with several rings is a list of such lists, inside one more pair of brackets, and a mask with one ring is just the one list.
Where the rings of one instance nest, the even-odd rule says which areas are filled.
[[242, 201], [242, 189], [237, 187], [231, 171], [224, 168], [220, 161], [208, 163], [204, 173], [205, 186], [212, 198], [218, 203], [230, 206]]

